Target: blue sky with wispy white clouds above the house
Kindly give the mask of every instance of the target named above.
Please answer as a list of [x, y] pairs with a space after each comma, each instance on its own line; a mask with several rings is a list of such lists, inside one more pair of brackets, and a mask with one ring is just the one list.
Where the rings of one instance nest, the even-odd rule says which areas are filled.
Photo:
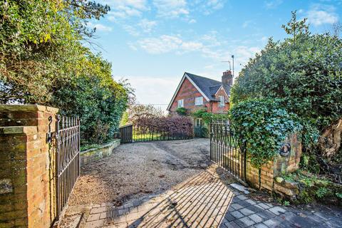
[[[266, 44], [281, 40], [281, 24], [297, 10], [311, 32], [341, 21], [342, 0], [108, 0], [111, 11], [96, 27], [95, 51], [128, 78], [139, 103], [167, 104], [185, 71], [220, 80], [235, 56], [235, 76]], [[163, 107], [164, 108], [164, 107]]]

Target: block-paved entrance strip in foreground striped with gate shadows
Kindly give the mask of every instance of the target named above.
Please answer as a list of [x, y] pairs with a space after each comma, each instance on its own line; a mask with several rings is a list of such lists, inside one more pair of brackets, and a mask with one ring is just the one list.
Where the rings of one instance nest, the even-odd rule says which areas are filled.
[[342, 219], [249, 199], [204, 171], [162, 195], [94, 205], [84, 227], [342, 227]]

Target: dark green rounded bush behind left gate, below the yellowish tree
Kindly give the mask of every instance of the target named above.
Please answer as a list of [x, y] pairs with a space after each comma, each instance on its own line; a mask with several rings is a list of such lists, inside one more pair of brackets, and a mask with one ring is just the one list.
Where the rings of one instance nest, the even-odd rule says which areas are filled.
[[62, 115], [81, 119], [82, 145], [113, 140], [127, 102], [123, 86], [114, 81], [104, 84], [99, 76], [76, 78], [53, 95], [53, 106]]

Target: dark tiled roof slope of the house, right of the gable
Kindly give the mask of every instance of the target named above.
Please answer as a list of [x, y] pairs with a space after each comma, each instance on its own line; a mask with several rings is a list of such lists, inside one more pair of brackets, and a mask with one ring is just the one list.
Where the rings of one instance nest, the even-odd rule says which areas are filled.
[[187, 76], [198, 86], [200, 90], [209, 98], [209, 100], [216, 100], [214, 94], [222, 86], [222, 82], [216, 81], [210, 78], [204, 78], [202, 76], [197, 76], [192, 73], [187, 73]]

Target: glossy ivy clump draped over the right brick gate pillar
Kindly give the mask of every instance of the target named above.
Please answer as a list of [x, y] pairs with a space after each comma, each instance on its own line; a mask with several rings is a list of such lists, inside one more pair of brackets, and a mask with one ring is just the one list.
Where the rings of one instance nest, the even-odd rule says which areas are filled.
[[296, 115], [281, 108], [279, 100], [246, 100], [234, 105], [229, 115], [237, 137], [247, 145], [247, 156], [258, 168], [278, 154], [287, 136], [301, 130]]

